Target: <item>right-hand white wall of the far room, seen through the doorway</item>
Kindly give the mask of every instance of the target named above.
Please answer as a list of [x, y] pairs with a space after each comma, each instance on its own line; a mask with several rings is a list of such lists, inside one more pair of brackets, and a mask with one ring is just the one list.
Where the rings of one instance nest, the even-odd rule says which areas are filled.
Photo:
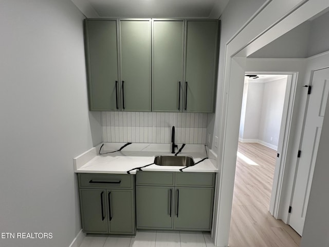
[[275, 149], [279, 145], [286, 84], [286, 78], [264, 83], [258, 138], [264, 145]]

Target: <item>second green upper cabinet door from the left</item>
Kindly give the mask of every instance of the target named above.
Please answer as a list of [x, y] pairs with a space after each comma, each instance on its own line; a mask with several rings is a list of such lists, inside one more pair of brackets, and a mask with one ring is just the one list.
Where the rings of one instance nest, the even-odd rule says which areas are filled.
[[120, 21], [123, 111], [151, 111], [151, 21]]

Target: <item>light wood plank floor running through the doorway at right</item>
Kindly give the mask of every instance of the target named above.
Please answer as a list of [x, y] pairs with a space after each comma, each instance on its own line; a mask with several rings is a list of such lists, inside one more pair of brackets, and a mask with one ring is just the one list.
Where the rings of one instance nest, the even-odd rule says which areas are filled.
[[238, 152], [229, 246], [299, 246], [301, 237], [293, 228], [268, 212], [277, 152], [240, 142]]

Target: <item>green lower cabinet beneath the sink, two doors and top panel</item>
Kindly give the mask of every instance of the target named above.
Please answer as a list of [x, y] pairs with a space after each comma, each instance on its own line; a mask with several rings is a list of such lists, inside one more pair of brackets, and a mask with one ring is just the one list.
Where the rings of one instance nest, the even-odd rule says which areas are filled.
[[211, 231], [215, 177], [215, 173], [137, 172], [137, 229]]

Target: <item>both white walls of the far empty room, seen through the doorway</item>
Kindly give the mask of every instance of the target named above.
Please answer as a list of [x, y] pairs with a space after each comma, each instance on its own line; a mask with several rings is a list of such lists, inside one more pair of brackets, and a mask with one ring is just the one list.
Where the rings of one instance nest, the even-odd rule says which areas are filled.
[[287, 78], [247, 81], [242, 99], [239, 139], [277, 150]]

